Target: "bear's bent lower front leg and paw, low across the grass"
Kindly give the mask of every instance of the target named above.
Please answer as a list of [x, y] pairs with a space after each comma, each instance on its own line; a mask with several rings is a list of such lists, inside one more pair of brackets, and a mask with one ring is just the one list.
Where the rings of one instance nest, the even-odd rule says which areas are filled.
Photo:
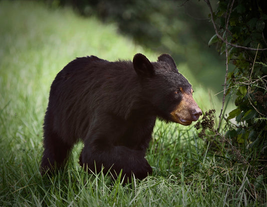
[[88, 167], [93, 172], [109, 172], [114, 179], [122, 170], [122, 178], [131, 180], [132, 174], [138, 179], [143, 179], [152, 173], [152, 168], [144, 158], [145, 154], [141, 150], [133, 150], [125, 146], [104, 146], [101, 147], [85, 144], [80, 156], [81, 166]]

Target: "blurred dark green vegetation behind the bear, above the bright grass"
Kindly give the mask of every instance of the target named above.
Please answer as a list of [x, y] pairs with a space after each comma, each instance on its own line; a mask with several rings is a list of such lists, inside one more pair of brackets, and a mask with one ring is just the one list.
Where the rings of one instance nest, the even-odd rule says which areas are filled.
[[[169, 53], [176, 64], [185, 64], [195, 82], [215, 92], [222, 90], [225, 61], [209, 47], [214, 34], [204, 1], [46, 1], [51, 8], [72, 7], [84, 17], [116, 24], [118, 32], [157, 53]], [[216, 1], [212, 2], [216, 6]], [[215, 93], [213, 93], [215, 94]], [[221, 97], [221, 93], [218, 94]]]

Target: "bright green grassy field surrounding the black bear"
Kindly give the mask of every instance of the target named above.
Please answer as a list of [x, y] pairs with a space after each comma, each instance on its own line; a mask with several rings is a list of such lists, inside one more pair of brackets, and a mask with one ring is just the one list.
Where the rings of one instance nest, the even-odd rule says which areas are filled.
[[[70, 9], [0, 2], [0, 206], [266, 206], [267, 186], [227, 153], [207, 151], [193, 126], [157, 122], [147, 152], [152, 176], [122, 185], [78, 165], [78, 144], [64, 171], [39, 172], [42, 124], [50, 85], [71, 60], [114, 61], [159, 54], [117, 33], [116, 25], [77, 17]], [[219, 108], [186, 63], [178, 69], [205, 111]], [[223, 155], [221, 155], [223, 154]]]

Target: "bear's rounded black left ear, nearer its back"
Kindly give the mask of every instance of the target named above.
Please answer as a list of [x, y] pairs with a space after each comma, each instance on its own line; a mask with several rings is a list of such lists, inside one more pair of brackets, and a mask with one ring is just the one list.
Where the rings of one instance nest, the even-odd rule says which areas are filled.
[[154, 67], [146, 56], [138, 53], [133, 58], [134, 70], [139, 77], [151, 78], [154, 75]]

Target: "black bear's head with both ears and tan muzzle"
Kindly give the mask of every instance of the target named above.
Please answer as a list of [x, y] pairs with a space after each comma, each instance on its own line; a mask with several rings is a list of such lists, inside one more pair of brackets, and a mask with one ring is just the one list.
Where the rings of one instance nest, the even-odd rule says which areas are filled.
[[142, 86], [142, 99], [166, 121], [189, 125], [202, 115], [194, 101], [193, 89], [180, 74], [171, 56], [162, 54], [157, 62], [136, 54], [133, 67]]

